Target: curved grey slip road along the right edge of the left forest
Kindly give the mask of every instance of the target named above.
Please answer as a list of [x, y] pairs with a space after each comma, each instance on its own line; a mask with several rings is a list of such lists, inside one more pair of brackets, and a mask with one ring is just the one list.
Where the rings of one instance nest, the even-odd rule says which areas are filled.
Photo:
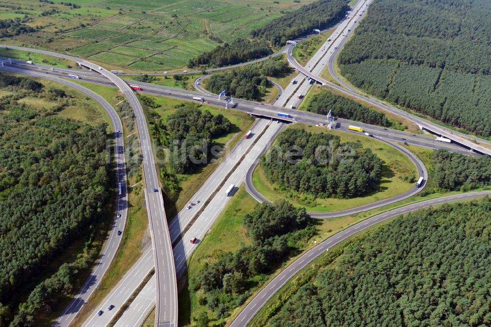
[[[8, 67], [5, 70], [8, 70]], [[95, 262], [94, 268], [90, 272], [89, 277], [83, 283], [82, 288], [75, 295], [74, 299], [71, 300], [68, 306], [64, 309], [61, 315], [63, 319], [62, 320], [58, 319], [54, 323], [55, 326], [64, 326], [69, 324], [69, 322], [75, 317], [78, 308], [80, 308], [90, 298], [94, 290], [98, 287], [99, 283], [102, 280], [102, 277], [107, 272], [110, 263], [112, 262], [114, 256], [116, 255], [119, 245], [121, 244], [122, 236], [118, 236], [117, 232], [118, 231], [123, 232], [126, 225], [126, 219], [128, 217], [128, 194], [126, 188], [127, 185], [126, 185], [126, 163], [125, 163], [125, 156], [124, 156], [124, 137], [122, 132], [118, 133], [116, 131], [122, 131], [123, 125], [121, 124], [121, 120], [116, 110], [114, 110], [114, 108], [112, 108], [112, 106], [104, 98], [102, 98], [97, 93], [83, 87], [82, 85], [71, 81], [65, 81], [65, 80], [60, 81], [59, 79], [51, 76], [46, 77], [45, 74], [35, 71], [30, 72], [29, 76], [48, 78], [49, 80], [55, 82], [61, 82], [93, 98], [108, 113], [111, 121], [111, 128], [114, 131], [114, 136], [115, 136], [115, 142], [114, 142], [114, 165], [115, 165], [115, 172], [116, 172], [115, 189], [117, 190], [119, 183], [121, 183], [121, 196], [116, 197], [115, 212], [109, 229], [109, 237], [105, 242], [101, 255]], [[121, 216], [118, 218], [118, 215]]]

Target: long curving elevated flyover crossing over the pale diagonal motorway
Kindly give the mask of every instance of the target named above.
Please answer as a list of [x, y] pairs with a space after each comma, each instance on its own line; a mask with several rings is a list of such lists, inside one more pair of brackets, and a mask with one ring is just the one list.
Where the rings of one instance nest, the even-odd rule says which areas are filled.
[[[7, 47], [0, 45], [0, 47]], [[159, 182], [157, 178], [157, 168], [154, 162], [151, 138], [148, 133], [143, 109], [138, 101], [133, 90], [126, 82], [111, 73], [109, 70], [99, 67], [87, 60], [76, 58], [65, 54], [57, 54], [51, 51], [30, 49], [24, 47], [8, 46], [10, 49], [23, 51], [31, 51], [36, 53], [53, 55], [62, 57], [68, 60], [78, 62], [87, 68], [101, 74], [106, 79], [109, 79], [115, 84], [128, 99], [136, 120], [136, 128], [140, 141], [141, 155], [143, 158], [143, 174], [145, 178], [145, 198], [147, 204], [147, 212], [150, 225], [150, 234], [152, 237], [152, 247], [155, 263], [155, 276], [157, 280], [156, 288], [156, 326], [177, 326], [177, 283], [175, 277], [174, 260], [172, 259], [172, 245], [167, 229], [167, 219], [165, 217], [164, 200], [160, 192], [154, 192], [154, 189], [159, 190]], [[2, 67], [3, 68], [3, 67]], [[27, 69], [28, 71], [28, 69]], [[49, 75], [49, 74], [47, 74]], [[88, 287], [91, 287], [88, 285]], [[162, 298], [162, 299], [161, 299]], [[165, 303], [165, 304], [164, 304]], [[83, 302], [78, 305], [73, 305], [64, 312], [70, 313], [71, 317], [58, 317], [58, 326], [68, 326], [70, 321], [79, 311]], [[63, 324], [61, 323], [63, 322]], [[65, 325], [66, 324], [66, 325]]]

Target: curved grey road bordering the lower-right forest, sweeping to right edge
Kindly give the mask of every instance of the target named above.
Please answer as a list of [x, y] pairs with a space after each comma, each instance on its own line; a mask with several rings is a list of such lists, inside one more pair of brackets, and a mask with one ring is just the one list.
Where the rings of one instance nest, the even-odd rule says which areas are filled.
[[244, 309], [238, 314], [234, 321], [230, 324], [230, 327], [243, 327], [246, 326], [252, 317], [266, 304], [266, 302], [273, 297], [273, 295], [286, 284], [293, 276], [305, 268], [309, 263], [311, 263], [315, 258], [326, 252], [329, 248], [334, 245], [341, 243], [342, 241], [348, 239], [354, 234], [363, 231], [371, 226], [381, 223], [387, 219], [397, 217], [408, 212], [418, 210], [421, 208], [438, 205], [451, 201], [459, 201], [466, 199], [473, 199], [482, 197], [485, 195], [491, 195], [491, 191], [479, 191], [479, 192], [469, 192], [463, 194], [455, 194], [450, 196], [439, 197], [436, 199], [426, 200], [422, 202], [417, 202], [409, 204], [407, 206], [390, 210], [382, 214], [367, 218], [350, 227], [328, 237], [319, 245], [311, 248], [304, 254], [302, 254], [297, 260], [295, 260], [288, 267], [283, 269], [281, 273], [276, 275], [273, 280], [271, 280], [265, 287], [250, 300]]

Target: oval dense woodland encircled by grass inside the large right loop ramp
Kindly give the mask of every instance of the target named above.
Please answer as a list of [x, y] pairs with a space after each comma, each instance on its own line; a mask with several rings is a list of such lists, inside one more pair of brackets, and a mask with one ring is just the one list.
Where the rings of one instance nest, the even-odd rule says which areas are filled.
[[351, 198], [377, 189], [382, 160], [356, 142], [289, 128], [261, 158], [266, 178], [282, 189], [316, 197]]

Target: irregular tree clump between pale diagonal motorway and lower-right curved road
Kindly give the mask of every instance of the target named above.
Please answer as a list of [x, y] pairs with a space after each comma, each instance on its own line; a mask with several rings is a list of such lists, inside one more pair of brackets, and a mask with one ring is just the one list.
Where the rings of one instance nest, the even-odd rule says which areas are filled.
[[200, 274], [190, 280], [191, 289], [204, 291], [200, 304], [206, 304], [217, 318], [228, 317], [230, 310], [243, 304], [258, 280], [315, 232], [305, 208], [294, 208], [284, 200], [258, 204], [244, 218], [244, 226], [252, 244], [220, 254], [216, 262], [206, 262]]

